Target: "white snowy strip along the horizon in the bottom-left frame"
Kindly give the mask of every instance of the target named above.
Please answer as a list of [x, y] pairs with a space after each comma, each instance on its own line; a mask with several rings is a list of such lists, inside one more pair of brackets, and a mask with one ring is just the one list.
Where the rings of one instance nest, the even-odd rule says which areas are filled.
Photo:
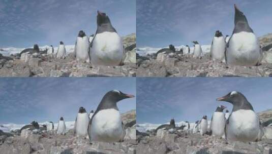
[[[46, 125], [48, 122], [43, 122], [43, 123], [39, 123], [40, 126], [42, 125]], [[70, 121], [70, 122], [65, 122], [66, 128], [69, 129], [73, 129], [74, 128], [74, 121]], [[17, 129], [21, 129], [23, 126], [28, 125], [28, 124], [3, 124], [0, 125], [0, 130], [4, 131], [4, 132], [10, 132], [12, 130], [17, 130]], [[57, 129], [57, 123], [54, 123], [54, 130]]]

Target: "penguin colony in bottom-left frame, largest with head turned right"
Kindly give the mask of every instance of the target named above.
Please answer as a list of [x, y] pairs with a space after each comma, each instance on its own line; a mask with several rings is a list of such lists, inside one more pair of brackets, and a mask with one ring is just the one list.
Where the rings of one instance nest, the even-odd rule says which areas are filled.
[[[118, 90], [109, 91], [104, 95], [96, 111], [86, 112], [84, 107], [79, 107], [74, 124], [74, 134], [77, 138], [88, 138], [90, 141], [121, 142], [126, 135], [125, 126], [117, 107], [117, 102], [132, 98], [134, 95], [125, 94]], [[174, 122], [173, 122], [174, 124]], [[27, 130], [40, 129], [48, 132], [54, 131], [53, 122], [48, 122], [41, 128], [37, 122], [32, 122], [21, 128]], [[66, 135], [67, 128], [64, 118], [58, 121], [56, 134]]]

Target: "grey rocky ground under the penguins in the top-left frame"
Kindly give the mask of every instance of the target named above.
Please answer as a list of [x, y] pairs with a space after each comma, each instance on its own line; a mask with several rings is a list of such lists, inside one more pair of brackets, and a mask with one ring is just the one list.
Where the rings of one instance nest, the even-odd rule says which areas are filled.
[[47, 54], [28, 54], [26, 58], [17, 55], [0, 55], [0, 76], [63, 77], [63, 76], [136, 76], [136, 35], [123, 37], [126, 57], [122, 66], [93, 66], [76, 61], [70, 53], [65, 59]]

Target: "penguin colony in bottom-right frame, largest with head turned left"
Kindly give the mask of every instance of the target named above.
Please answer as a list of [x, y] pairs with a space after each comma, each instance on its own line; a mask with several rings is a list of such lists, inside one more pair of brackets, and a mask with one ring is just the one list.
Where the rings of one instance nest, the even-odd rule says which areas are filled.
[[[232, 91], [226, 96], [217, 98], [217, 101], [225, 101], [233, 105], [229, 113], [225, 110], [227, 107], [219, 105], [211, 115], [210, 123], [207, 115], [196, 121], [190, 127], [189, 122], [181, 127], [170, 125], [161, 125], [158, 129], [176, 129], [184, 130], [187, 133], [199, 133], [200, 135], [212, 135], [216, 138], [225, 138], [229, 141], [252, 142], [259, 141], [263, 136], [263, 127], [268, 126], [271, 122], [260, 123], [257, 113], [254, 111], [251, 103], [240, 92]], [[225, 110], [225, 112], [224, 112]]]

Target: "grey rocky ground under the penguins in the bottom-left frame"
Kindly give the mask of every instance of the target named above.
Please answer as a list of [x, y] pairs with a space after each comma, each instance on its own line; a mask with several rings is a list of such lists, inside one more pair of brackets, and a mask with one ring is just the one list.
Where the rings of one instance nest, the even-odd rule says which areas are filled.
[[[5, 154], [120, 154], [136, 153], [136, 112], [135, 110], [122, 114], [127, 126], [124, 142], [106, 143], [89, 142], [88, 139], [76, 138], [73, 130], [66, 135], [56, 135], [52, 132], [24, 131], [21, 135], [0, 132], [0, 153]], [[130, 123], [130, 124], [129, 124]], [[134, 125], [132, 125], [134, 123]]]

